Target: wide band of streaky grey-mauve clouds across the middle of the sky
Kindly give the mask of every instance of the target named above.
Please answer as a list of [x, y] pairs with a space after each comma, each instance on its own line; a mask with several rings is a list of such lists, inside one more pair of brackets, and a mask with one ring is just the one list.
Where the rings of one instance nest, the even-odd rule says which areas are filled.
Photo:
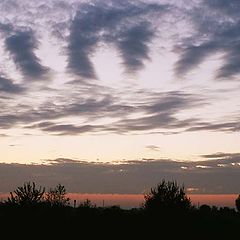
[[34, 107], [13, 104], [11, 106], [14, 111], [8, 108], [0, 113], [0, 128], [18, 126], [39, 129], [53, 135], [72, 136], [87, 133], [236, 132], [240, 129], [239, 119], [236, 117], [231, 117], [229, 122], [208, 122], [191, 116], [181, 117], [186, 110], [198, 109], [206, 104], [206, 99], [200, 95], [182, 91], [145, 92], [141, 93], [141, 100], [138, 100], [138, 93], [133, 92], [132, 97], [135, 96], [135, 100], [124, 101], [120, 93], [114, 90], [112, 93], [110, 95], [109, 90], [107, 93], [94, 93], [95, 98], [74, 95], [70, 98], [63, 97], [59, 102], [47, 100]]

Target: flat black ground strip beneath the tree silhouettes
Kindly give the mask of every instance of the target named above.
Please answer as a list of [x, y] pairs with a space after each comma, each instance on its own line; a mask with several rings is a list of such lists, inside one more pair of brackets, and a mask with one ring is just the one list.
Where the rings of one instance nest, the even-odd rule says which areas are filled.
[[118, 206], [13, 207], [2, 204], [0, 226], [2, 235], [7, 234], [10, 239], [229, 239], [239, 236], [240, 214], [235, 209], [207, 205], [188, 212], [149, 212], [141, 208], [124, 210]]

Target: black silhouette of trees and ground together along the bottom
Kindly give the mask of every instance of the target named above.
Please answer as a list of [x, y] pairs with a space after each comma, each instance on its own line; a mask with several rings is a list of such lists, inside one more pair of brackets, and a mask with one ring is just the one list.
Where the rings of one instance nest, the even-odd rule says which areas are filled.
[[97, 207], [89, 200], [70, 206], [69, 202], [60, 184], [46, 192], [35, 183], [25, 183], [0, 204], [1, 233], [10, 239], [229, 239], [240, 227], [240, 213], [235, 209], [193, 206], [184, 187], [165, 180], [145, 195], [139, 208]]

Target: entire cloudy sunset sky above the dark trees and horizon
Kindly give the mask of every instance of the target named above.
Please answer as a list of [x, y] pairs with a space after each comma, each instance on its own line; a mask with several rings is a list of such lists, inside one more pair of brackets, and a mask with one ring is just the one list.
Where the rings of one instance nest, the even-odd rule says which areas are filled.
[[240, 192], [238, 0], [0, 0], [0, 192]]

